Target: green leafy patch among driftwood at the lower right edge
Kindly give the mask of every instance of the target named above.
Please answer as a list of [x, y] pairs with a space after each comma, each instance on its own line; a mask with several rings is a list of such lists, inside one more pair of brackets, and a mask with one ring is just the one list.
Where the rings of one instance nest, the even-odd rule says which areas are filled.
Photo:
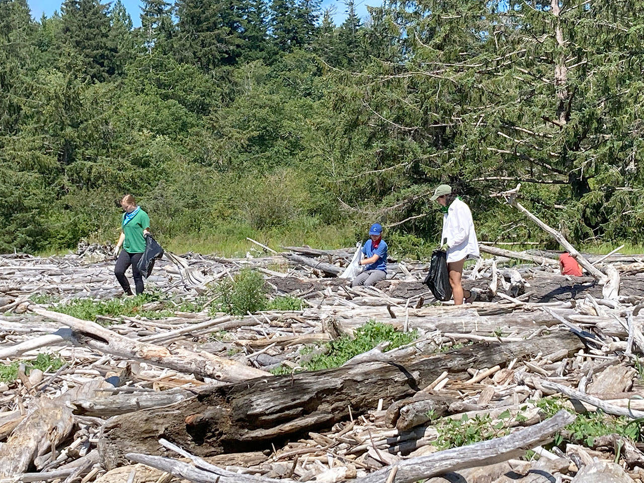
[[[536, 406], [547, 417], [555, 415], [562, 409], [569, 411], [566, 407], [566, 400], [559, 397], [544, 397], [536, 402]], [[596, 437], [613, 433], [632, 440], [641, 440], [641, 424], [644, 421], [640, 419], [630, 419], [625, 416], [616, 417], [601, 412], [601, 410], [594, 413], [569, 412], [574, 414], [576, 419], [565, 426], [564, 430], [556, 433], [554, 446], [560, 446], [564, 442], [592, 446]]]

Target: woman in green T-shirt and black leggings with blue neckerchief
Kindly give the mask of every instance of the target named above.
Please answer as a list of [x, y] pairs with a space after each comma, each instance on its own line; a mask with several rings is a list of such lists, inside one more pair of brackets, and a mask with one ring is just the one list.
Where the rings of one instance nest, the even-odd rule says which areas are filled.
[[[128, 278], [125, 276], [125, 271], [132, 265], [134, 286], [137, 295], [139, 295], [143, 293], [143, 277], [138, 271], [137, 265], [143, 252], [146, 251], [146, 236], [150, 232], [150, 218], [140, 206], [137, 206], [137, 202], [131, 194], [123, 196], [121, 206], [125, 213], [121, 219], [121, 234], [114, 249], [114, 256], [118, 256], [114, 274], [126, 295], [132, 295]], [[123, 251], [119, 255], [118, 251], [121, 247], [123, 247]]]

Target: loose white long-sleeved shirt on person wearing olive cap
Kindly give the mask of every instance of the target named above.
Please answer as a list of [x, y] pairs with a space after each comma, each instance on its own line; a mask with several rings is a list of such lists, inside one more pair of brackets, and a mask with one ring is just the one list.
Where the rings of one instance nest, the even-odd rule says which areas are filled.
[[477, 234], [474, 231], [474, 220], [468, 205], [456, 198], [448, 212], [443, 215], [443, 229], [440, 244], [447, 239], [447, 261], [463, 260], [480, 256]]

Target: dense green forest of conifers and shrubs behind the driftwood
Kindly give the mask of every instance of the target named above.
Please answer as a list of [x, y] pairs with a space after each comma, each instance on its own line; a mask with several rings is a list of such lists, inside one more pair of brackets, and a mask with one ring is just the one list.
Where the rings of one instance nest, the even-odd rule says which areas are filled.
[[144, 0], [133, 28], [118, 0], [1, 0], [0, 252], [114, 241], [125, 193], [164, 242], [381, 222], [413, 251], [440, 182], [480, 240], [554, 248], [489, 196], [521, 182], [574, 243], [642, 242], [643, 2], [337, 8]]

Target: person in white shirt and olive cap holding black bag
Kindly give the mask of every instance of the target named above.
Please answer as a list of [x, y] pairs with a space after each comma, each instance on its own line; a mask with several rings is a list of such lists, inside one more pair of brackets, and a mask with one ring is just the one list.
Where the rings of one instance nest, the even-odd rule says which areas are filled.
[[450, 270], [454, 305], [462, 304], [463, 299], [468, 303], [473, 302], [477, 296], [476, 292], [463, 290], [461, 284], [465, 261], [480, 256], [472, 213], [469, 211], [468, 205], [452, 193], [449, 185], [439, 185], [430, 199], [437, 201], [444, 212], [440, 240], [441, 248], [447, 252], [447, 266]]

